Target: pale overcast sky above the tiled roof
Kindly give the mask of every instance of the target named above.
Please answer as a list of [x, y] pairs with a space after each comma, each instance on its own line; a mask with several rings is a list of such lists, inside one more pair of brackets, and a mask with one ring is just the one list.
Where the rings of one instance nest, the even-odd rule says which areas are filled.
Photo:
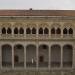
[[75, 10], [75, 0], [0, 0], [0, 9]]

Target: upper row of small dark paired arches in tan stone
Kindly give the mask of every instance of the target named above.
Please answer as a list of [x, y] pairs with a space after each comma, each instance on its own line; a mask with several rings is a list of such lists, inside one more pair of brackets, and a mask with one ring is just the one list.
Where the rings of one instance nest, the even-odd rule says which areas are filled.
[[[32, 27], [31, 27], [32, 26]], [[38, 25], [39, 26], [39, 25]], [[11, 25], [12, 27], [12, 25]], [[63, 28], [61, 28], [60, 24], [52, 24], [51, 26], [40, 26], [37, 28], [36, 24], [33, 26], [32, 24], [30, 26], [27, 26], [24, 28], [23, 26], [20, 26], [19, 28], [16, 26], [13, 29], [9, 25], [6, 28], [6, 25], [1, 27], [1, 34], [43, 34], [43, 35], [61, 35], [61, 32], [63, 35], [73, 35], [74, 32], [74, 26], [72, 24], [66, 23], [63, 25]]]

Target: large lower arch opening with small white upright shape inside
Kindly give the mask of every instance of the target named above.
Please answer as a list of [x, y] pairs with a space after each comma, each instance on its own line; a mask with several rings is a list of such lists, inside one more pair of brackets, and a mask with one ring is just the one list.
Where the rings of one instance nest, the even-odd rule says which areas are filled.
[[33, 44], [26, 46], [26, 67], [36, 67], [36, 46]]

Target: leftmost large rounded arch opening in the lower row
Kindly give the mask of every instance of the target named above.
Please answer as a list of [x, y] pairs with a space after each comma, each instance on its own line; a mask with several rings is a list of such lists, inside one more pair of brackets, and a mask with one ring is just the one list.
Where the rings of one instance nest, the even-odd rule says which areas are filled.
[[2, 45], [2, 66], [12, 66], [12, 46], [9, 44]]

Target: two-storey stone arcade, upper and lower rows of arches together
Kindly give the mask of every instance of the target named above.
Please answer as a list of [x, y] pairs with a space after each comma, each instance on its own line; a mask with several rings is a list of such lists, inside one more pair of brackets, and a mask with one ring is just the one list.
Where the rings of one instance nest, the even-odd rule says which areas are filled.
[[[72, 40], [75, 37], [74, 32], [74, 26], [68, 23], [63, 23], [63, 26], [59, 23], [51, 25], [27, 24], [26, 26], [22, 24], [2, 25], [0, 27], [1, 39], [3, 42], [9, 41], [13, 45], [10, 43], [0, 44], [1, 67], [11, 69], [73, 68], [75, 62], [73, 58], [75, 57], [73, 53], [74, 42]], [[32, 38], [32, 35], [34, 38]], [[44, 38], [42, 38], [43, 36]], [[64, 39], [64, 37], [70, 38]], [[35, 42], [35, 44], [32, 42]], [[39, 44], [39, 42], [48, 44]]]

